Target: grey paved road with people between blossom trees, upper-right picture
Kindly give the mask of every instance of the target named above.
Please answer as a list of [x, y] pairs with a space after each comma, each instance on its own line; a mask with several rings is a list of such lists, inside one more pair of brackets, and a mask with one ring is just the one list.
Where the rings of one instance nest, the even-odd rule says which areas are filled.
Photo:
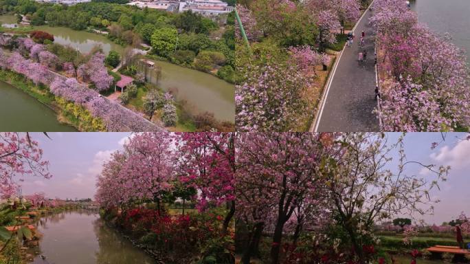
[[[369, 25], [371, 16], [372, 12], [366, 11], [355, 29], [353, 45], [342, 52], [336, 72], [333, 72], [331, 87], [326, 88], [324, 105], [313, 131], [379, 131], [379, 120], [372, 113], [377, 101], [374, 94], [374, 32]], [[366, 38], [365, 45], [360, 48], [362, 31]], [[357, 61], [359, 49], [368, 53], [363, 65]]]

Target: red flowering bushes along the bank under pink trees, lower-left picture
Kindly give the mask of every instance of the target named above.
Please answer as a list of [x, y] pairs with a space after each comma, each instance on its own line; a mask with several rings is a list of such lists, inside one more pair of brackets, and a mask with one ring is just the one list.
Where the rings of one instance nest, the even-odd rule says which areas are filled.
[[214, 256], [220, 259], [218, 263], [230, 263], [227, 260], [234, 251], [229, 246], [233, 244], [233, 234], [221, 235], [223, 217], [219, 214], [170, 215], [165, 210], [159, 213], [155, 209], [133, 208], [117, 216], [116, 223], [139, 235], [139, 241], [147, 248], [165, 252], [170, 258], [188, 259], [201, 254], [202, 260]]

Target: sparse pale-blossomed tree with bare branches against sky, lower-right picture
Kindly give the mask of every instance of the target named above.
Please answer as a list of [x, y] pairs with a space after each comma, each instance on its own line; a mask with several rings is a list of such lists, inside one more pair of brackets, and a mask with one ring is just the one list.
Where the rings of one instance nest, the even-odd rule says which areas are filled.
[[[325, 159], [321, 174], [336, 215], [335, 225], [341, 227], [353, 245], [357, 263], [367, 263], [367, 247], [363, 241], [373, 236], [375, 221], [394, 214], [427, 214], [433, 204], [429, 192], [447, 179], [449, 166], [423, 164], [407, 160], [403, 136], [389, 142], [383, 133], [341, 133], [336, 135]], [[398, 155], [396, 168], [391, 155]], [[410, 166], [429, 171], [427, 177], [410, 175]], [[368, 239], [366, 239], [368, 238]]]

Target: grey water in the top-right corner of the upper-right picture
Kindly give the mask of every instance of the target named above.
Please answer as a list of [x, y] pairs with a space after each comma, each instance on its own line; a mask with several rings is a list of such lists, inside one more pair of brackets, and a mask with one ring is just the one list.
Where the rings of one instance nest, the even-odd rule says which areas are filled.
[[438, 33], [449, 32], [452, 42], [467, 52], [470, 63], [470, 1], [469, 0], [415, 0], [412, 10], [418, 19]]

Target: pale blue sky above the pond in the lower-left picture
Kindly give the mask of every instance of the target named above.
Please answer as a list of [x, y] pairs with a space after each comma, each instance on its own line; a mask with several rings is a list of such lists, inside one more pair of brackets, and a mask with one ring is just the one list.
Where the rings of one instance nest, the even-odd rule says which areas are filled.
[[122, 149], [130, 133], [31, 133], [49, 161], [51, 179], [25, 177], [23, 194], [45, 192], [47, 197], [92, 198], [96, 175], [111, 153]]

